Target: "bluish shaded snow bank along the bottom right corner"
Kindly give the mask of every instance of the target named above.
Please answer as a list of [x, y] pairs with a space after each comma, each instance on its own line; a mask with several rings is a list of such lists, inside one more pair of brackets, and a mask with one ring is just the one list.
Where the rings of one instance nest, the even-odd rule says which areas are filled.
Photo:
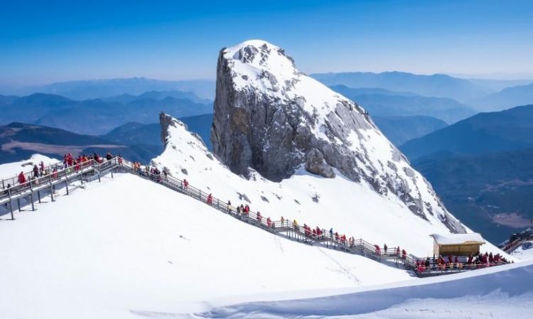
[[192, 318], [532, 318], [533, 262], [291, 301], [221, 306]]

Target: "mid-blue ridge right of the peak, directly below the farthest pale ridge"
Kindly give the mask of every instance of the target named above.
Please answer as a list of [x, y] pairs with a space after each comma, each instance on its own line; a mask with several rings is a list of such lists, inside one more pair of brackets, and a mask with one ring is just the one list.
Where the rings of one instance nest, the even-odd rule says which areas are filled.
[[364, 107], [372, 116], [397, 117], [423, 115], [451, 124], [476, 112], [454, 99], [421, 97], [412, 92], [394, 92], [380, 88], [351, 88], [345, 85], [330, 87]]

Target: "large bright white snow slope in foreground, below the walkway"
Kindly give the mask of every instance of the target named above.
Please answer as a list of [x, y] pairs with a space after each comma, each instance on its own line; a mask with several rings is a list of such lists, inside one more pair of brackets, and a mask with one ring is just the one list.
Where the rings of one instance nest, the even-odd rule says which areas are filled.
[[0, 222], [1, 318], [139, 318], [410, 278], [281, 239], [130, 174], [59, 193]]

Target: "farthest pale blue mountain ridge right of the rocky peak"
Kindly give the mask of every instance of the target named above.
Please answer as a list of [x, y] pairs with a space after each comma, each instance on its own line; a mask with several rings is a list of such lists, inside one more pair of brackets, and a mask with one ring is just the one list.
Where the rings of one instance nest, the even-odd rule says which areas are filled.
[[341, 72], [311, 75], [325, 85], [347, 87], [379, 87], [398, 92], [413, 92], [424, 97], [448, 97], [465, 102], [485, 97], [492, 91], [469, 80], [449, 75], [414, 75], [407, 72]]

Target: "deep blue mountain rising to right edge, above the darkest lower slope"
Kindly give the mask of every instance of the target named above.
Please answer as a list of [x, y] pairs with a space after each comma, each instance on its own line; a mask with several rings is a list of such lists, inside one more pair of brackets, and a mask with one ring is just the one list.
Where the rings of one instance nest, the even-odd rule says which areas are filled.
[[533, 104], [501, 112], [480, 113], [400, 146], [411, 159], [473, 156], [533, 148]]

